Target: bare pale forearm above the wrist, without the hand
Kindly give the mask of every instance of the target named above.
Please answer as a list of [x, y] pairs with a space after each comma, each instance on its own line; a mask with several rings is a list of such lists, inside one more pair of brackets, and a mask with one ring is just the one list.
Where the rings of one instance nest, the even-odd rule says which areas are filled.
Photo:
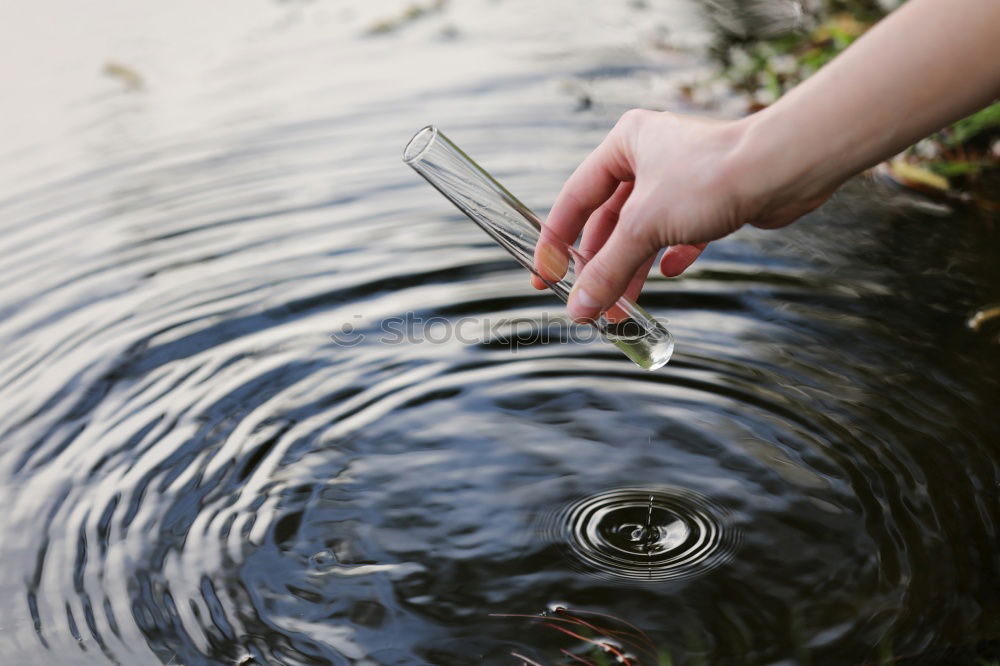
[[772, 188], [822, 198], [998, 96], [1000, 0], [909, 0], [747, 118], [742, 150]]

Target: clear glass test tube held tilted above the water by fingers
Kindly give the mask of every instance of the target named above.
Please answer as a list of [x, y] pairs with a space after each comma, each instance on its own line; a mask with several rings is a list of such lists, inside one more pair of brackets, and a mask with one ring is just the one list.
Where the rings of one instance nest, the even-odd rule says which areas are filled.
[[[517, 198], [451, 142], [436, 127], [417, 132], [403, 150], [403, 161], [479, 225], [564, 302], [583, 268], [584, 259], [570, 245], [546, 239], [535, 266], [541, 222]], [[632, 300], [620, 298], [591, 324], [646, 370], [663, 367], [674, 339], [652, 315]]]

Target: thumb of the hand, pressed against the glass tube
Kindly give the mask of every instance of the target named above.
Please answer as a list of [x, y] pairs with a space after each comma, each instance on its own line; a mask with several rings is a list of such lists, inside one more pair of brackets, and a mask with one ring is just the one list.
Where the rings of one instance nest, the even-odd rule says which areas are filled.
[[[623, 216], [625, 212], [622, 211]], [[625, 293], [639, 268], [656, 253], [656, 243], [644, 234], [637, 235], [636, 228], [619, 223], [593, 259], [578, 273], [569, 297], [569, 313], [573, 319], [597, 319]]]

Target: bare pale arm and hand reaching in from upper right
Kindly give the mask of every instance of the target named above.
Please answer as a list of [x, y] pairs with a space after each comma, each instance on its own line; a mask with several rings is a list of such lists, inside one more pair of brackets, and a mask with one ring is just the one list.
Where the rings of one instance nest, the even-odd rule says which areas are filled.
[[536, 267], [558, 279], [565, 253], [550, 241], [580, 238], [587, 263], [569, 311], [594, 319], [638, 295], [660, 249], [661, 272], [680, 275], [709, 242], [745, 224], [791, 224], [854, 174], [998, 97], [1000, 0], [909, 0], [754, 115], [627, 112], [560, 191]]

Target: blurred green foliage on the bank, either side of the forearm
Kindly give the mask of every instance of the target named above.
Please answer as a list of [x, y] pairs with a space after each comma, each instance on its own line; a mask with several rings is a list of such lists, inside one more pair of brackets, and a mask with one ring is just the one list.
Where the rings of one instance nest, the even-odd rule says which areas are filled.
[[[893, 4], [827, 0], [779, 34], [724, 31], [714, 49], [719, 78], [746, 99], [748, 111], [759, 110], [833, 60]], [[879, 171], [911, 189], [1000, 211], [1000, 101], [918, 142]]]

